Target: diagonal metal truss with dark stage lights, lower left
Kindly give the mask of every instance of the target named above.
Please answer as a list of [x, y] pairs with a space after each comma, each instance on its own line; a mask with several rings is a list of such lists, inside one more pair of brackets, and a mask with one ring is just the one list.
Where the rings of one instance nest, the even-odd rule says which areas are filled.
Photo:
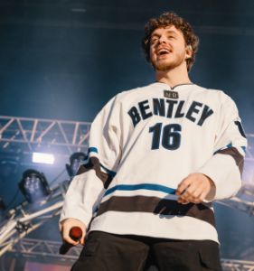
[[0, 200], [0, 257], [33, 229], [60, 215], [65, 194], [84, 157], [83, 153], [72, 154], [66, 165], [71, 179], [53, 187], [43, 173], [25, 171], [18, 186], [26, 200], [12, 210]]

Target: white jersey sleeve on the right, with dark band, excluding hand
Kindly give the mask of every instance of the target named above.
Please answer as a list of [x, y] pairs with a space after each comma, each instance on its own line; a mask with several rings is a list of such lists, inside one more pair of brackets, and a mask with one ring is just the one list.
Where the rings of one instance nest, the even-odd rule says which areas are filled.
[[197, 171], [215, 184], [205, 201], [226, 200], [240, 190], [246, 148], [247, 139], [238, 109], [227, 96], [221, 105], [212, 158]]

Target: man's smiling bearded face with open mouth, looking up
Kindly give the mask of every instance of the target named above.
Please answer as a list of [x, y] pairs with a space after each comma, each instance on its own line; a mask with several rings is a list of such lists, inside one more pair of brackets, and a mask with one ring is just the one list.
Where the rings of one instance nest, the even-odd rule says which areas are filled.
[[155, 29], [150, 42], [150, 63], [155, 70], [173, 70], [182, 65], [187, 69], [188, 57], [183, 33], [174, 25]]

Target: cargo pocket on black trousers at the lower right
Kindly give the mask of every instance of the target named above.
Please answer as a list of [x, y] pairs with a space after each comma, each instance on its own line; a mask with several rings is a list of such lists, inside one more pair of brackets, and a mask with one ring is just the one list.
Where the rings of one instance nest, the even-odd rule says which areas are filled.
[[209, 247], [200, 248], [199, 255], [202, 270], [223, 271], [221, 267], [219, 246], [217, 243], [214, 242]]

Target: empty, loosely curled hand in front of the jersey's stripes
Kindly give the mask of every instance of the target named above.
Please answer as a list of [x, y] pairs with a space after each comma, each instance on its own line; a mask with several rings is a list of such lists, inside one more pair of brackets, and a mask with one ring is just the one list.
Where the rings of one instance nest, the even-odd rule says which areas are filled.
[[214, 182], [208, 176], [202, 173], [192, 173], [179, 183], [175, 195], [183, 194], [177, 199], [177, 202], [198, 204], [205, 199], [213, 185]]

